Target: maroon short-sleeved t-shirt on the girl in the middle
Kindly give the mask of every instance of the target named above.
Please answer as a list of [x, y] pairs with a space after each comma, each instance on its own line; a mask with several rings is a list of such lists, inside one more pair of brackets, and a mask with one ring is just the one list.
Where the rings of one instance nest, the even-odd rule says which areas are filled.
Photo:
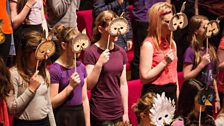
[[[103, 51], [93, 44], [85, 51], [83, 63], [95, 65]], [[114, 120], [122, 117], [120, 77], [126, 62], [126, 52], [115, 45], [114, 49], [110, 50], [109, 61], [102, 67], [96, 86], [91, 90], [90, 110], [96, 119]]]

